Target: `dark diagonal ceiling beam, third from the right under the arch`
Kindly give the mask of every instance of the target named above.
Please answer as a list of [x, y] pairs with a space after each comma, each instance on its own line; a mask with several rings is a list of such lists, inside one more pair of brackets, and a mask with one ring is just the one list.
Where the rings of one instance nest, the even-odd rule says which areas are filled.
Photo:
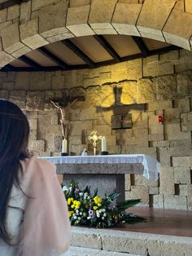
[[81, 49], [76, 46], [71, 40], [65, 39], [61, 41], [65, 46], [67, 46], [70, 50], [72, 50], [81, 60], [85, 61], [85, 64], [89, 66], [89, 68], [95, 68], [96, 64], [93, 60], [91, 60], [85, 52], [81, 51]]

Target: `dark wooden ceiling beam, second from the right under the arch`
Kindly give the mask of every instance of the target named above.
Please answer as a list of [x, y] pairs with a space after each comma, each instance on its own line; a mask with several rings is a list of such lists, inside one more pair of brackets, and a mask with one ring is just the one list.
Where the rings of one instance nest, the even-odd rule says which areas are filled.
[[107, 42], [107, 40], [102, 35], [94, 35], [94, 39], [96, 39], [101, 46], [108, 52], [109, 55], [116, 61], [116, 63], [121, 61], [120, 55], [113, 49], [111, 44]]

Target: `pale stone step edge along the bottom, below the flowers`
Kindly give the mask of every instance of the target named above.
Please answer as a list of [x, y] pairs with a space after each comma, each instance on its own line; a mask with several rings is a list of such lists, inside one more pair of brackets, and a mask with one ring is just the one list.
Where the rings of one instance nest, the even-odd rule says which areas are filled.
[[185, 255], [190, 255], [192, 238], [111, 229], [72, 227], [72, 246], [97, 249], [98, 251], [100, 250], [99, 254], [104, 250], [116, 253], [114, 255], [118, 255], [117, 253], [146, 255], [148, 252], [153, 256], [180, 256], [184, 253]]

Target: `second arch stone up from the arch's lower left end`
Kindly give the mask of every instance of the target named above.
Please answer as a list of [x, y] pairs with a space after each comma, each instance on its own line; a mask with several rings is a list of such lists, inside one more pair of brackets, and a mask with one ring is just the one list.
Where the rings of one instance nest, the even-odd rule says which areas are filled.
[[11, 54], [24, 47], [24, 44], [20, 42], [19, 24], [14, 23], [8, 25], [6, 28], [2, 29], [1, 35], [2, 46], [7, 53]]

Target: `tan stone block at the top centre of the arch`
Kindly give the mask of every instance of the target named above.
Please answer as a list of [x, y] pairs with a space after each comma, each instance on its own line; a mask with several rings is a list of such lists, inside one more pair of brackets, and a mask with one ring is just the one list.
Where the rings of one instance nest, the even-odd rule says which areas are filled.
[[[104, 30], [109, 30], [113, 32], [113, 27], [111, 25], [111, 19], [116, 6], [116, 0], [93, 0], [91, 2], [91, 8], [89, 13], [89, 24], [95, 33], [104, 32]], [[97, 30], [95, 30], [97, 29]], [[108, 31], [108, 32], [109, 32]]]

